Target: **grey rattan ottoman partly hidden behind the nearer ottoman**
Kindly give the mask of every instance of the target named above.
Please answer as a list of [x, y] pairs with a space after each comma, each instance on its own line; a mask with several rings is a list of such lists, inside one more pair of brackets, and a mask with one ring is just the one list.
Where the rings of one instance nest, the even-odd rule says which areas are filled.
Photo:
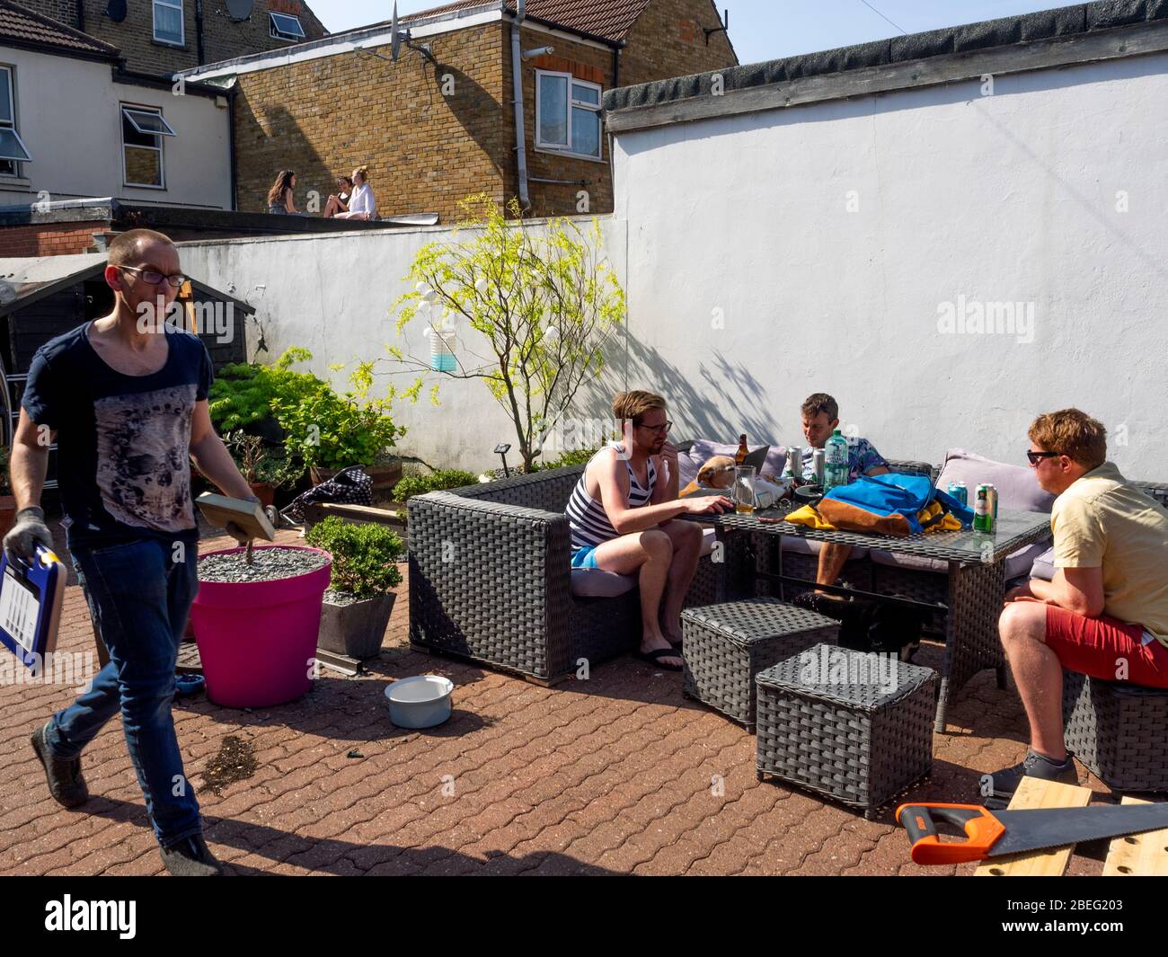
[[682, 692], [755, 726], [755, 675], [819, 643], [835, 643], [840, 623], [778, 598], [748, 598], [681, 612]]

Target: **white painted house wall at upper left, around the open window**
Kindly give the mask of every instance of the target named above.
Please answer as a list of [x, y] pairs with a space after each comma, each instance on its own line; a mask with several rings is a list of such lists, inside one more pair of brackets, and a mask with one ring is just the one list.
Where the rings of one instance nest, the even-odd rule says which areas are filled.
[[[15, 68], [16, 125], [33, 157], [27, 182], [0, 178], [0, 204], [116, 196], [168, 206], [231, 207], [230, 111], [204, 96], [114, 83], [109, 63], [0, 47]], [[119, 103], [159, 106], [166, 189], [123, 186]], [[5, 187], [8, 188], [5, 188]]]

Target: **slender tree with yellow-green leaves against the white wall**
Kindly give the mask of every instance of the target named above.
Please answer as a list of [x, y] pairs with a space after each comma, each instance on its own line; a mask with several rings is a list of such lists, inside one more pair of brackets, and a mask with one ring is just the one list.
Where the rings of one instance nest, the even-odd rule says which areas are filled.
[[[600, 374], [605, 342], [625, 319], [625, 293], [602, 252], [599, 221], [588, 229], [566, 219], [535, 224], [515, 200], [508, 220], [486, 194], [460, 206], [451, 241], [418, 250], [406, 275], [415, 289], [391, 311], [399, 335], [413, 320], [431, 335], [458, 333], [454, 361], [438, 374], [484, 381], [514, 424], [530, 471], [557, 416]], [[472, 351], [482, 344], [489, 354]], [[395, 372], [418, 373], [396, 393], [416, 401], [429, 359], [387, 348], [402, 367]], [[431, 395], [437, 402], [437, 383]]]

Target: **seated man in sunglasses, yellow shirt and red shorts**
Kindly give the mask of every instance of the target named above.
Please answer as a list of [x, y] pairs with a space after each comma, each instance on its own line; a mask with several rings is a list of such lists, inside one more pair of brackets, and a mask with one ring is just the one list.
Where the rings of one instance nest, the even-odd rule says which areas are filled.
[[1026, 760], [992, 775], [1008, 798], [1024, 776], [1073, 783], [1063, 744], [1063, 668], [1168, 688], [1168, 509], [1107, 458], [1107, 432], [1078, 409], [1038, 416], [1027, 457], [1058, 498], [1055, 577], [1006, 596], [1002, 646], [1030, 721]]

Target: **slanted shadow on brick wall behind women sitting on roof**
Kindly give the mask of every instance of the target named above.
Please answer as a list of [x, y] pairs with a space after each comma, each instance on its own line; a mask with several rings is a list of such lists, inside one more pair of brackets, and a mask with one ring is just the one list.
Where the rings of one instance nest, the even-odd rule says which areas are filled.
[[[325, 166], [320, 153], [300, 129], [300, 124], [284, 106], [269, 104], [260, 106], [260, 116], [248, 102], [246, 93], [241, 90], [237, 102], [238, 117], [236, 125], [236, 150], [241, 158], [238, 207], [244, 213], [266, 213], [267, 190], [276, 182], [280, 169], [296, 172], [296, 207], [304, 211], [308, 206], [308, 193], [320, 194], [320, 208], [324, 210], [329, 193], [335, 192], [335, 178], [342, 171], [332, 171]], [[270, 148], [270, 141], [279, 143], [279, 151]], [[264, 169], [256, 157], [271, 157], [271, 168]], [[345, 173], [348, 173], [352, 164]], [[319, 215], [310, 214], [310, 215]]]

